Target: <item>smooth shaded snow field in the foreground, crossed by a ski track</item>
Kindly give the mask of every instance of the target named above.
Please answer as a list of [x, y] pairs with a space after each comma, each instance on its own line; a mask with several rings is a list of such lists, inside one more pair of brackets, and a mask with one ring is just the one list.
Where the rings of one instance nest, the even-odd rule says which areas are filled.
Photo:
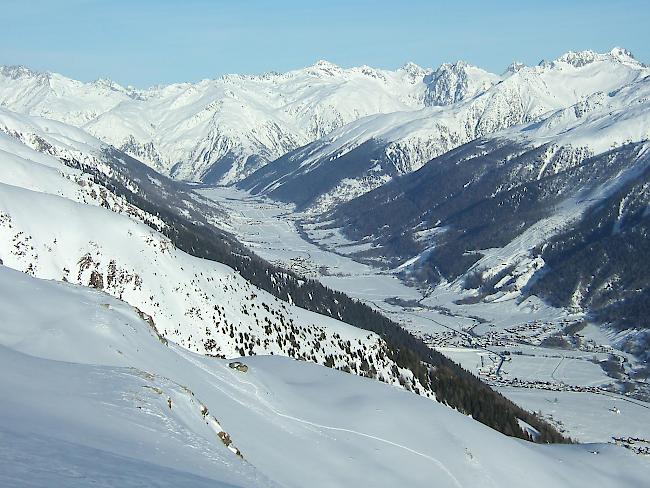
[[231, 369], [165, 345], [98, 290], [7, 267], [0, 290], [2, 486], [638, 487], [650, 475], [620, 447], [515, 440], [314, 364]]

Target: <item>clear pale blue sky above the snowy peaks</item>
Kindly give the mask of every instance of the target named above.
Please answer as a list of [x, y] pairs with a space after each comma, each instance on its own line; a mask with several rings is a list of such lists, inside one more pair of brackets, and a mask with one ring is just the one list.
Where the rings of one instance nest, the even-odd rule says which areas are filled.
[[2, 0], [0, 64], [138, 87], [318, 59], [397, 68], [464, 59], [494, 72], [568, 50], [650, 62], [649, 0]]

